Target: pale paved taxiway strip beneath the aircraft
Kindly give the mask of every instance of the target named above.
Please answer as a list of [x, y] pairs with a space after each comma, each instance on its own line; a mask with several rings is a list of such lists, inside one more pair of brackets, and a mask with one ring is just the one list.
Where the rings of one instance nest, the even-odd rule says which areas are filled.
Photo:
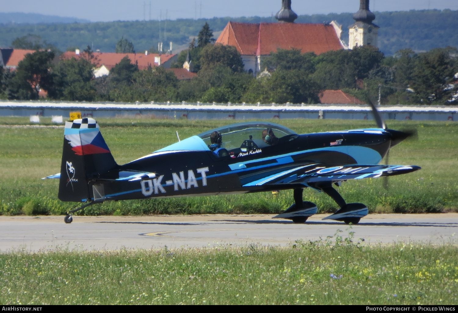
[[304, 224], [274, 215], [156, 216], [0, 216], [0, 252], [56, 250], [169, 249], [218, 246], [282, 246], [296, 241], [335, 241], [336, 236], [363, 244], [393, 242], [458, 245], [458, 213], [369, 214], [357, 225], [322, 220]]

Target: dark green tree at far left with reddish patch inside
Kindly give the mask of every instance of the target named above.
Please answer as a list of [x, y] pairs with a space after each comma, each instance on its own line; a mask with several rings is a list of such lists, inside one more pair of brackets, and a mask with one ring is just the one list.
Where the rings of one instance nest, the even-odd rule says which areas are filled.
[[49, 71], [55, 54], [52, 51], [36, 51], [19, 62], [16, 75], [11, 80], [13, 99], [36, 100], [40, 89], [53, 97], [54, 74]]

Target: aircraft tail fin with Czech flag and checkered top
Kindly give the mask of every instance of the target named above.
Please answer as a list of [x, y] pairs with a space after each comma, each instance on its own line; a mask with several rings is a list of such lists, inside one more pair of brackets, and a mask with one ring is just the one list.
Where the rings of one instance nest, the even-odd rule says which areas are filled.
[[91, 200], [93, 191], [88, 181], [117, 166], [94, 119], [65, 122], [59, 183], [61, 201]]

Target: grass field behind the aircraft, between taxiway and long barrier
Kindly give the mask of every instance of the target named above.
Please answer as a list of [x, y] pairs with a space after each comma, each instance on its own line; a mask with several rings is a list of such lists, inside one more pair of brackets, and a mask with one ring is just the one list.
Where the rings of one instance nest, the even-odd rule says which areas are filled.
[[[43, 122], [44, 121], [44, 122]], [[100, 119], [101, 132], [114, 158], [124, 164], [180, 138], [236, 122], [233, 120], [161, 120], [154, 118]], [[373, 127], [373, 121], [281, 120], [298, 133]], [[29, 124], [27, 118], [0, 118], [0, 214], [65, 214], [74, 203], [57, 199], [57, 180], [41, 180], [60, 170], [63, 127]], [[347, 202], [362, 202], [370, 212], [458, 211], [458, 123], [430, 121], [387, 121], [390, 128], [416, 128], [419, 139], [406, 141], [390, 152], [390, 164], [420, 165], [421, 170], [391, 177], [389, 188], [382, 179], [348, 181], [339, 188]], [[304, 200], [318, 205], [320, 213], [333, 212], [337, 205], [324, 193], [306, 189]], [[270, 192], [196, 198], [162, 198], [106, 202], [80, 214], [211, 214], [282, 212], [293, 203], [291, 191], [278, 196]]]

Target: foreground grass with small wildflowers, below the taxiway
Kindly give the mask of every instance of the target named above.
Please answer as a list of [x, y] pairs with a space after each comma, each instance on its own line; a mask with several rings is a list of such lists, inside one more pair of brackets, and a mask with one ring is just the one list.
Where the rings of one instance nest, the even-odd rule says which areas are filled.
[[455, 305], [457, 247], [365, 246], [338, 231], [290, 247], [0, 254], [0, 303]]

